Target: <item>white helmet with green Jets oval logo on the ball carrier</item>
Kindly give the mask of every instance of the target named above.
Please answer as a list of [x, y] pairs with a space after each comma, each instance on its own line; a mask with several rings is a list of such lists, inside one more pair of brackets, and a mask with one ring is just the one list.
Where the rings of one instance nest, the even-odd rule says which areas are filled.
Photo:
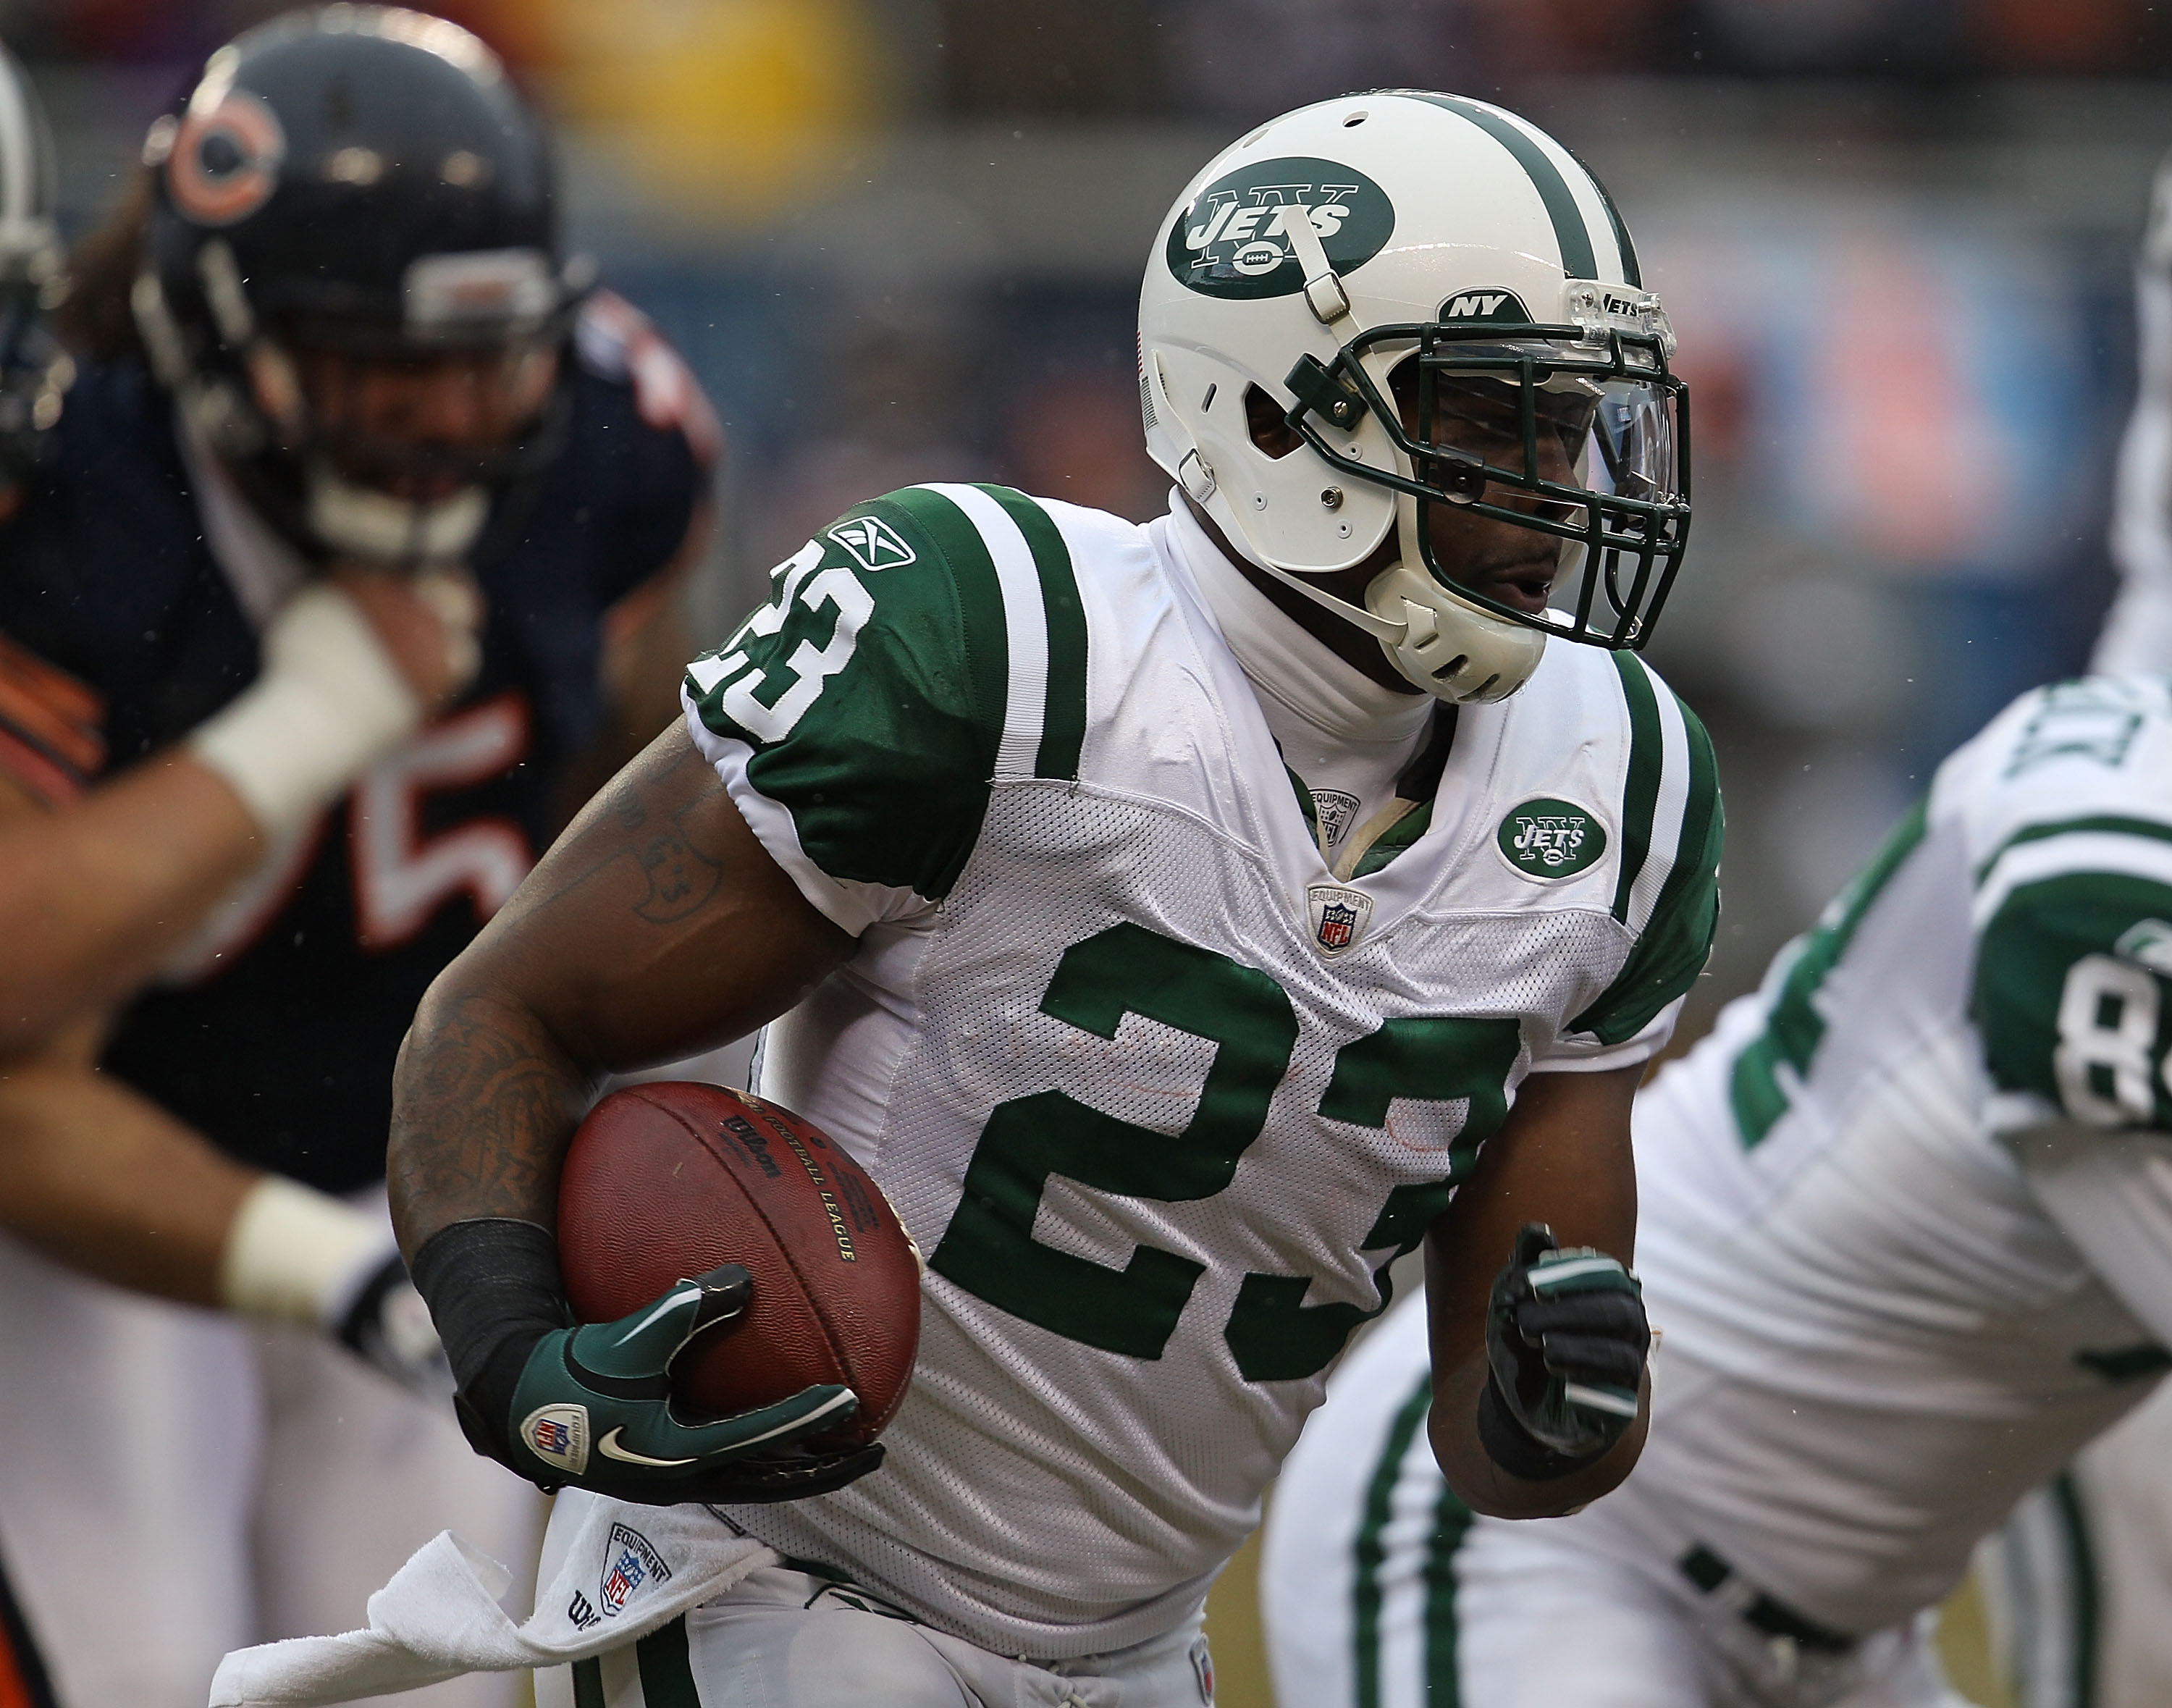
[[[1238, 552], [1451, 702], [1514, 693], [1549, 637], [1651, 639], [1690, 532], [1672, 350], [1583, 163], [1514, 113], [1416, 89], [1223, 150], [1162, 222], [1138, 304], [1153, 461]], [[1251, 389], [1301, 448], [1255, 443]], [[1568, 608], [1455, 585], [1436, 504], [1557, 539]], [[1390, 530], [1362, 608], [1310, 580]]]

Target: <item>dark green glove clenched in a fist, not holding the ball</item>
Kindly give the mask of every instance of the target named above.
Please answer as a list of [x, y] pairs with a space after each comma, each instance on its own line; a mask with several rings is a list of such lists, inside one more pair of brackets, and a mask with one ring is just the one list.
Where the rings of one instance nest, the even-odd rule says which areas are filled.
[[1544, 1223], [1525, 1223], [1486, 1313], [1486, 1449], [1525, 1478], [1568, 1475], [1599, 1458], [1638, 1417], [1649, 1349], [1638, 1278], [1605, 1252], [1564, 1252]]

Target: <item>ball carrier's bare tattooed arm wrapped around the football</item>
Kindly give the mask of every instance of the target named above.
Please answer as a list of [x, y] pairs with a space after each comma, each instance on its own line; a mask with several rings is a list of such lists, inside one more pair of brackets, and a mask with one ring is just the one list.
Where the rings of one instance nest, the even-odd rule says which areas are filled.
[[558, 1163], [602, 1073], [743, 1037], [847, 954], [669, 728], [424, 997], [393, 1076], [402, 1252], [473, 1217], [554, 1226]]

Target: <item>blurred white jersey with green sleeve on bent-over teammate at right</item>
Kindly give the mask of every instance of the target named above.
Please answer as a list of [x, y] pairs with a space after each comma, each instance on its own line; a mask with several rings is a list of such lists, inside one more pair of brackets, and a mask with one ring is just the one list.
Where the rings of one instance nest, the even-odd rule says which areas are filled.
[[1664, 1343], [1631, 1499], [1868, 1632], [1937, 1602], [2148, 1393], [2172, 1328], [2168, 921], [2163, 678], [2031, 693], [1940, 767], [1638, 1097]]

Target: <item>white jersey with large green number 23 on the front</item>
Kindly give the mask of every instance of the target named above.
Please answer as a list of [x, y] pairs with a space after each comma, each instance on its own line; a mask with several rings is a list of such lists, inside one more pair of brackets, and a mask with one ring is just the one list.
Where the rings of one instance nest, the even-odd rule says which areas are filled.
[[1199, 1604], [1520, 1078], [1655, 1050], [1716, 910], [1703, 728], [1559, 643], [1442, 715], [1442, 782], [1336, 878], [1164, 528], [912, 487], [686, 685], [860, 943], [760, 1091], [927, 1258], [888, 1462], [730, 1517], [1036, 1658]]

